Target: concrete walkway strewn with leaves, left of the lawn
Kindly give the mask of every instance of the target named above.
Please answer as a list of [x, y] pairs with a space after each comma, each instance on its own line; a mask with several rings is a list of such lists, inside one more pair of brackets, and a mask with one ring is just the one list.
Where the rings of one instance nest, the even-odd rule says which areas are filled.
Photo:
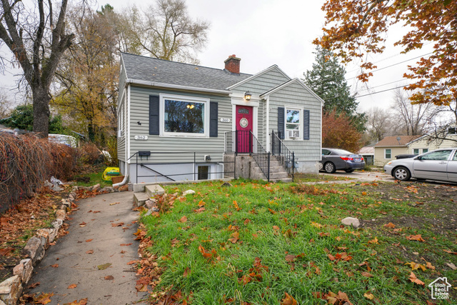
[[[54, 293], [49, 304], [86, 298], [87, 304], [134, 304], [145, 299], [145, 293], [136, 292], [135, 271], [127, 265], [138, 259], [139, 241], [133, 235], [138, 224], [133, 222], [139, 213], [132, 211], [133, 193], [104, 194], [77, 204], [79, 211], [67, 221], [69, 234], [46, 251], [29, 281], [40, 284], [26, 293]], [[69, 288], [73, 284], [76, 288]]]

